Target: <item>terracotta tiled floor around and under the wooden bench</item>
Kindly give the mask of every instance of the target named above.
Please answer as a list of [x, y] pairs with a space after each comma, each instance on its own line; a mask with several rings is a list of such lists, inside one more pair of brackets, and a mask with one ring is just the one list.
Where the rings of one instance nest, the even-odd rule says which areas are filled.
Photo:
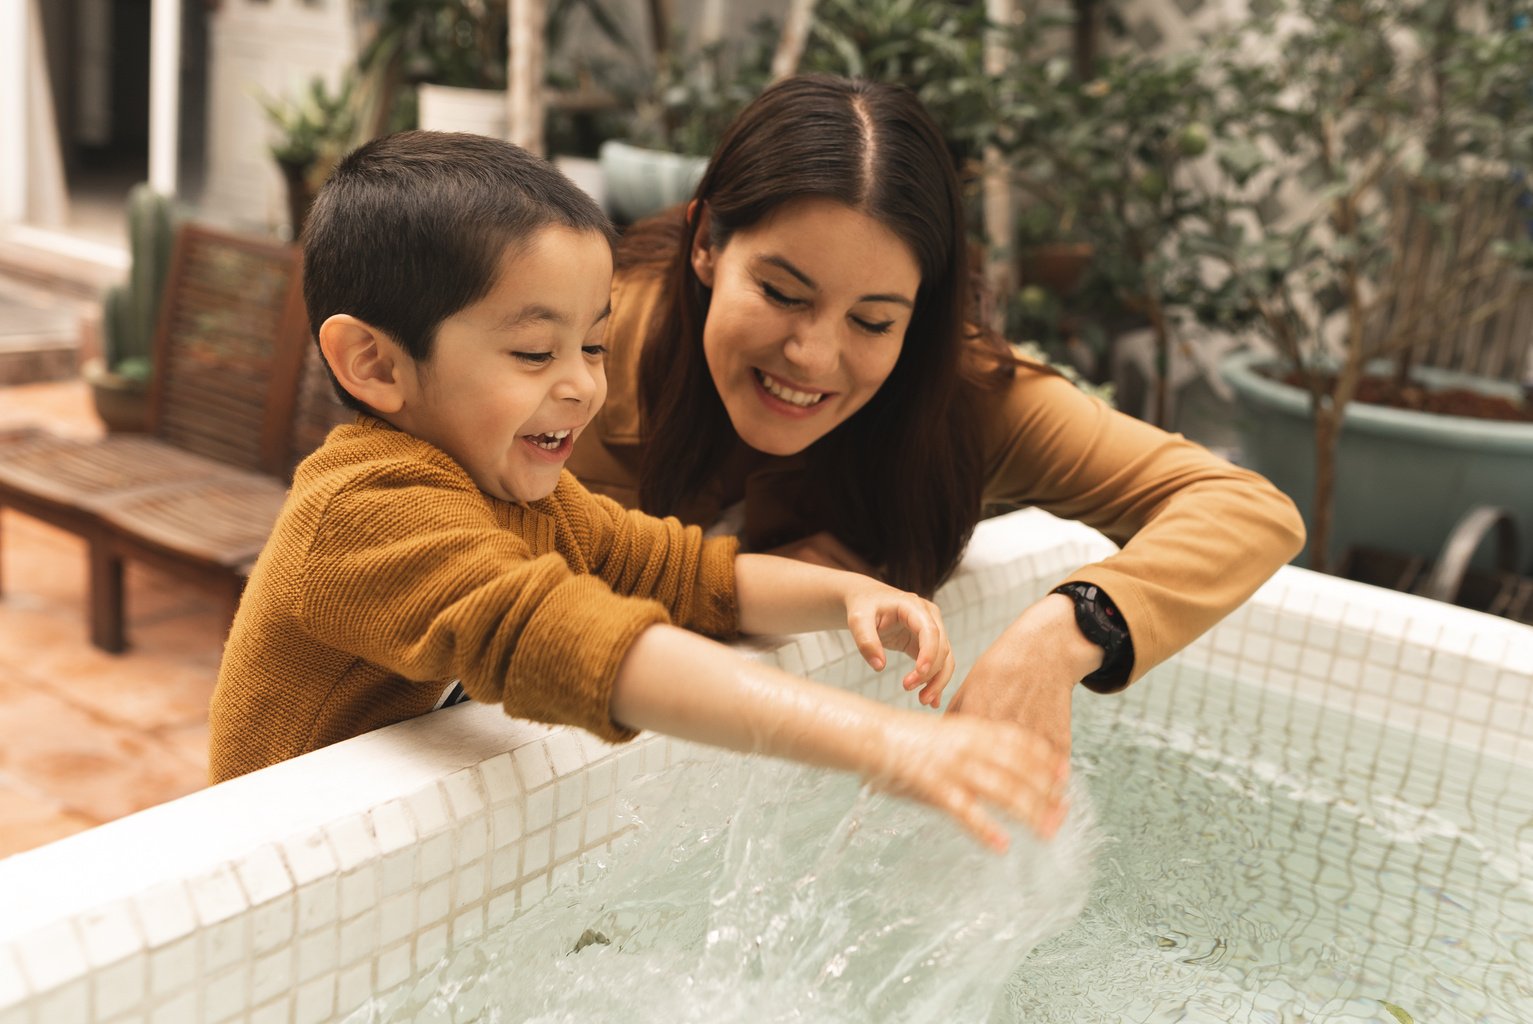
[[[0, 388], [0, 429], [101, 434], [83, 382]], [[87, 641], [84, 543], [0, 514], [0, 855], [199, 789], [230, 610], [130, 563], [129, 650]]]

